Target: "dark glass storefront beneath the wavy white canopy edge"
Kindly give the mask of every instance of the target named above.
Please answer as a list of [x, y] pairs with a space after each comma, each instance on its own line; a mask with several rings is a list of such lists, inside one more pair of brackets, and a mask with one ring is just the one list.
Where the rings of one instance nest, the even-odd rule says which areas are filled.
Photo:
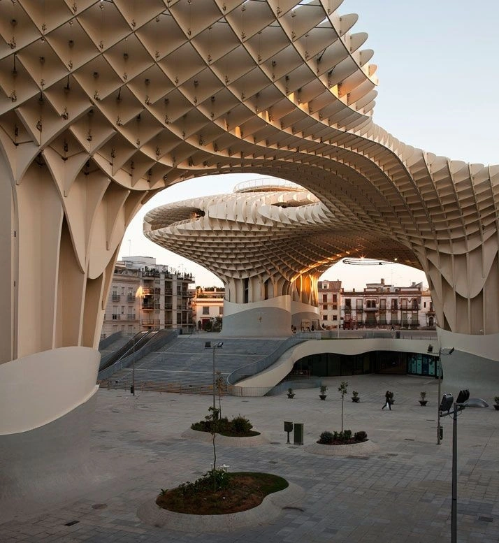
[[363, 373], [428, 375], [435, 377], [435, 356], [421, 353], [373, 351], [363, 354], [321, 353], [296, 361], [293, 373], [340, 377]]

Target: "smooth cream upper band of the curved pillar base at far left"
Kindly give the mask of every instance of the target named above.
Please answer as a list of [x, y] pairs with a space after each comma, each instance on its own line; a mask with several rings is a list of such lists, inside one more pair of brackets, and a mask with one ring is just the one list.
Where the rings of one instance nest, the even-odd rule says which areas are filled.
[[0, 365], [0, 435], [33, 430], [91, 398], [101, 355], [62, 347]]

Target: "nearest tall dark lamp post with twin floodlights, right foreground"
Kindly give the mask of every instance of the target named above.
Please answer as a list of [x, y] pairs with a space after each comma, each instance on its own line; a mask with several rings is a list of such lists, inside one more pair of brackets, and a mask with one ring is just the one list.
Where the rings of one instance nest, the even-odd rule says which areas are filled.
[[[451, 411], [452, 407], [452, 411]], [[457, 543], [457, 417], [465, 407], [489, 407], [482, 398], [470, 398], [470, 391], [459, 392], [456, 402], [451, 394], [444, 394], [440, 411], [442, 417], [452, 417], [452, 506], [451, 506], [451, 543]]]

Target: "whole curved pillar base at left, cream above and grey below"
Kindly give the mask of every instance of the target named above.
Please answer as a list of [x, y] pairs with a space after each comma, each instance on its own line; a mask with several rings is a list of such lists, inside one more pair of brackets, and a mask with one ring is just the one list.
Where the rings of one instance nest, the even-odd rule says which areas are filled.
[[[85, 483], [101, 355], [62, 347], [0, 365], [0, 500]], [[2, 505], [3, 507], [3, 505]]]

